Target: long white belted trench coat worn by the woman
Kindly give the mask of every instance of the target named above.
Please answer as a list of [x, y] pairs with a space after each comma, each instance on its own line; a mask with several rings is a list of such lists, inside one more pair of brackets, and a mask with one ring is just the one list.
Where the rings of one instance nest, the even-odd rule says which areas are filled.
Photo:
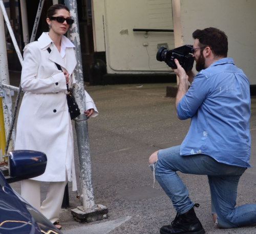
[[[15, 150], [36, 150], [47, 156], [44, 174], [32, 178], [38, 181], [65, 181], [66, 169], [68, 180], [76, 188], [73, 133], [67, 105], [67, 86], [64, 74], [56, 64], [69, 74], [70, 87], [75, 85], [74, 68], [76, 58], [74, 45], [65, 36], [65, 60], [47, 33], [42, 33], [38, 41], [28, 44], [24, 49], [22, 69], [22, 88], [26, 91], [20, 106]], [[47, 51], [50, 46], [51, 53]], [[93, 116], [98, 114], [92, 98], [86, 93], [85, 110], [94, 108]], [[81, 110], [83, 113], [83, 110]]]

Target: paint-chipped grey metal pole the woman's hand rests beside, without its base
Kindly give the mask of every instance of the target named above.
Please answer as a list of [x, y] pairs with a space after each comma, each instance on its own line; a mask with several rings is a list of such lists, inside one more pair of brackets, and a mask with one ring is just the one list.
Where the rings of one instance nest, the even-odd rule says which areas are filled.
[[69, 30], [69, 39], [75, 45], [75, 53], [77, 66], [74, 71], [76, 78], [76, 88], [74, 90], [74, 96], [77, 104], [81, 110], [79, 121], [75, 122], [78, 153], [79, 153], [79, 168], [81, 176], [83, 208], [92, 208], [94, 204], [93, 186], [92, 186], [92, 170], [91, 170], [91, 157], [89, 149], [89, 135], [87, 128], [87, 116], [84, 115], [83, 110], [86, 105], [83, 85], [83, 73], [82, 73], [82, 56], [81, 45], [79, 38], [79, 26], [77, 16], [77, 4], [74, 0], [66, 0], [65, 5], [70, 9], [70, 14], [73, 17], [74, 24]]

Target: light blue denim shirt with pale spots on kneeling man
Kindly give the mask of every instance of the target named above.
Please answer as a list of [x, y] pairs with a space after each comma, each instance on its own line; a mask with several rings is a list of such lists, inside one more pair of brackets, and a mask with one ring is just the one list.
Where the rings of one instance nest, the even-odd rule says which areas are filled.
[[177, 106], [191, 118], [180, 155], [206, 154], [228, 165], [251, 167], [250, 86], [231, 58], [200, 71]]

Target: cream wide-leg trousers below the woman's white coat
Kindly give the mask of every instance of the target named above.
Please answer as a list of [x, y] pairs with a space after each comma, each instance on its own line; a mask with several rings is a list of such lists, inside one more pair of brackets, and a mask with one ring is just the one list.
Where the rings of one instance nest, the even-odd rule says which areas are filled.
[[26, 179], [22, 181], [22, 197], [49, 219], [51, 223], [54, 223], [59, 219], [67, 182], [67, 176], [66, 181], [50, 182], [46, 199], [41, 204], [40, 181]]

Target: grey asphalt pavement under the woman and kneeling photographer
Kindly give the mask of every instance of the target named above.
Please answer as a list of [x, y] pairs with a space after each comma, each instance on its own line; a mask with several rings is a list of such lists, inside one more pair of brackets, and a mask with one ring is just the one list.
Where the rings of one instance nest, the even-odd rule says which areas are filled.
[[[153, 175], [148, 168], [148, 157], [159, 149], [181, 144], [190, 124], [190, 120], [178, 120], [175, 99], [165, 98], [167, 85], [86, 87], [99, 110], [99, 116], [88, 121], [95, 203], [107, 206], [110, 218], [93, 223], [74, 221], [70, 209], [80, 203], [69, 184], [71, 206], [60, 215], [63, 233], [155, 234], [175, 218], [172, 203], [157, 182], [153, 189]], [[255, 97], [252, 97], [251, 111], [252, 169], [241, 177], [237, 205], [256, 203]], [[77, 157], [75, 146], [76, 165]], [[196, 213], [206, 233], [255, 233], [256, 226], [212, 229], [207, 176], [179, 175], [191, 200], [200, 203]], [[47, 184], [41, 185], [41, 199], [46, 195]], [[19, 182], [11, 185], [20, 192]]]

